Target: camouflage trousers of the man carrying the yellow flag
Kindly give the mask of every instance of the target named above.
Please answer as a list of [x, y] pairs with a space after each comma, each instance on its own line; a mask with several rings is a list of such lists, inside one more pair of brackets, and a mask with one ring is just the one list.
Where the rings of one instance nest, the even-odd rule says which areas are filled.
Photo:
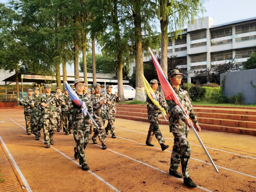
[[159, 129], [158, 119], [150, 119], [149, 123], [150, 123], [150, 126], [148, 130], [147, 141], [151, 142], [153, 139], [153, 136], [155, 135], [156, 139], [160, 144], [165, 143], [163, 135]]

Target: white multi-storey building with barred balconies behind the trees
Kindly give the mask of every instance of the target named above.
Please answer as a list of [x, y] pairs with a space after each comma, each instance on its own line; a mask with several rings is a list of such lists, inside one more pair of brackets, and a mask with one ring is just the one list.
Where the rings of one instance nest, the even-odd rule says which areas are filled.
[[[157, 55], [161, 49], [154, 50]], [[177, 55], [186, 58], [178, 66], [183, 70], [202, 70], [214, 68], [217, 64], [228, 63], [235, 59], [236, 64], [242, 65], [252, 53], [256, 53], [256, 17], [214, 25], [214, 18], [204, 17], [188, 22], [182, 38], [167, 44], [168, 57]], [[143, 62], [149, 60], [147, 53], [143, 55]], [[135, 70], [131, 66], [131, 74]], [[188, 75], [188, 82], [200, 80]]]

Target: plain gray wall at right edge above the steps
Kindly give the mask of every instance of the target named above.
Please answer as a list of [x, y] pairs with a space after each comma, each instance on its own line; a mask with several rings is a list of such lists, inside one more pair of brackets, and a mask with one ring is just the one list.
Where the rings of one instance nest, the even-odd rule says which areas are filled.
[[220, 83], [226, 76], [224, 94], [227, 96], [233, 96], [238, 92], [243, 94], [244, 104], [253, 104], [256, 102], [256, 88], [252, 87], [252, 84], [256, 85], [256, 69], [232, 71], [228, 73], [220, 74]]

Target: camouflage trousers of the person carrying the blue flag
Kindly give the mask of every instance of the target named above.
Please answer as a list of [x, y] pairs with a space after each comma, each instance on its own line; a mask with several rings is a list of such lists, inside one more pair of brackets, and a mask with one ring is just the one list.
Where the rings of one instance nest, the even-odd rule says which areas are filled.
[[85, 161], [84, 149], [90, 140], [90, 126], [73, 129], [73, 135], [76, 142], [76, 152], [78, 154], [79, 164], [87, 164]]

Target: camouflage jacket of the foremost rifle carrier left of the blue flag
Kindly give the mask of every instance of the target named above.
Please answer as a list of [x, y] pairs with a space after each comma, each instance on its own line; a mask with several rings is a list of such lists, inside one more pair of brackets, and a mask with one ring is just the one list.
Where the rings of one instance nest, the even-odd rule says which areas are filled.
[[[42, 102], [47, 102], [47, 99], [49, 99], [50, 97], [52, 97], [52, 94], [42, 94], [41, 97], [38, 97], [35, 100], [35, 107], [40, 106]], [[57, 118], [57, 107], [59, 107], [59, 105], [60, 100], [53, 100], [51, 103], [49, 103], [49, 105], [47, 105], [46, 108], [42, 108], [42, 118]]]

